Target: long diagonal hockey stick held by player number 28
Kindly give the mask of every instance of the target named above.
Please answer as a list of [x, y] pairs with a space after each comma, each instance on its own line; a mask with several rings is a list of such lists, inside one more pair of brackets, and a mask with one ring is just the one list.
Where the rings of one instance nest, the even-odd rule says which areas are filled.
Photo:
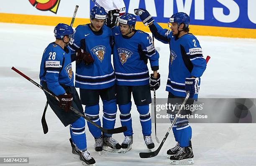
[[[25, 74], [23, 74], [22, 72], [20, 72], [18, 69], [16, 69], [15, 67], [12, 67], [12, 69], [17, 72], [18, 74], [20, 74], [22, 77], [26, 78], [28, 81], [32, 82], [34, 85], [36, 85], [38, 88], [42, 89], [44, 92], [50, 94], [52, 97], [54, 97], [56, 100], [59, 101], [59, 98], [56, 97], [52, 92], [49, 92], [48, 90], [44, 89], [44, 87], [42, 87], [40, 84], [36, 83], [35, 81], [33, 81], [31, 78], [29, 78], [28, 76], [26, 76]], [[77, 111], [76, 109], [74, 109], [73, 107], [69, 107], [70, 110], [74, 111], [74, 113], [78, 114], [79, 116], [82, 116], [85, 120], [89, 121], [91, 124], [93, 124], [94, 126], [96, 126], [97, 128], [99, 128], [101, 131], [103, 131], [104, 133], [107, 134], [117, 134], [117, 133], [123, 133], [124, 131], [127, 130], [126, 126], [122, 126], [122, 127], [118, 127], [115, 129], [105, 129], [99, 125], [97, 125], [94, 121], [92, 121], [91, 119], [89, 119], [87, 116], [85, 116], [84, 114], [82, 114], [81, 112]]]

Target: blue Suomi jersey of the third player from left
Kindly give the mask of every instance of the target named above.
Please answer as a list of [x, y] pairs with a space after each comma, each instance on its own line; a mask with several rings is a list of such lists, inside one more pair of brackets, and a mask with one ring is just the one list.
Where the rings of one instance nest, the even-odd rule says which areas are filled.
[[159, 53], [150, 35], [136, 30], [133, 36], [125, 38], [120, 27], [113, 27], [113, 62], [118, 85], [137, 86], [149, 84], [149, 72], [145, 62], [149, 59], [151, 69], [159, 69]]

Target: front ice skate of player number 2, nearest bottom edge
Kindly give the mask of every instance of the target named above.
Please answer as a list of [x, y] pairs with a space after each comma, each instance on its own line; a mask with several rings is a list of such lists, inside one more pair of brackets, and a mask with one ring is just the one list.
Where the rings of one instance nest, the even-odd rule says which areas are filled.
[[193, 160], [193, 151], [191, 141], [189, 142], [190, 145], [187, 147], [182, 147], [177, 154], [174, 156], [170, 156], [171, 164], [180, 165], [180, 164], [194, 164]]

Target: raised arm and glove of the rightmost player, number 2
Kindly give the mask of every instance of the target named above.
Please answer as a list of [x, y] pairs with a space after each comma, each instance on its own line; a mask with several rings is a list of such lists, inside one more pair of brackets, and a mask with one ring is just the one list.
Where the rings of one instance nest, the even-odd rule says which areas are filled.
[[157, 40], [166, 44], [170, 42], [169, 37], [172, 36], [170, 35], [172, 31], [163, 29], [159, 24], [157, 24], [146, 9], [135, 9], [134, 12], [140, 17], [145, 26], [149, 25], [150, 31]]

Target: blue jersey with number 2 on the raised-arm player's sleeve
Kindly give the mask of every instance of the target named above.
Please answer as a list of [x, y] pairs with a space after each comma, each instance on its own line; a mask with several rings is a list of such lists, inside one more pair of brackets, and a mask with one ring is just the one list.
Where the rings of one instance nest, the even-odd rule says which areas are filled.
[[[186, 97], [185, 79], [198, 77], [200, 86], [200, 77], [206, 69], [206, 60], [203, 58], [199, 41], [191, 33], [177, 39], [171, 30], [163, 29], [156, 22], [150, 26], [150, 30], [157, 40], [169, 43], [170, 60], [166, 91], [175, 96]], [[197, 99], [197, 96], [198, 94], [195, 94], [194, 99]]]

